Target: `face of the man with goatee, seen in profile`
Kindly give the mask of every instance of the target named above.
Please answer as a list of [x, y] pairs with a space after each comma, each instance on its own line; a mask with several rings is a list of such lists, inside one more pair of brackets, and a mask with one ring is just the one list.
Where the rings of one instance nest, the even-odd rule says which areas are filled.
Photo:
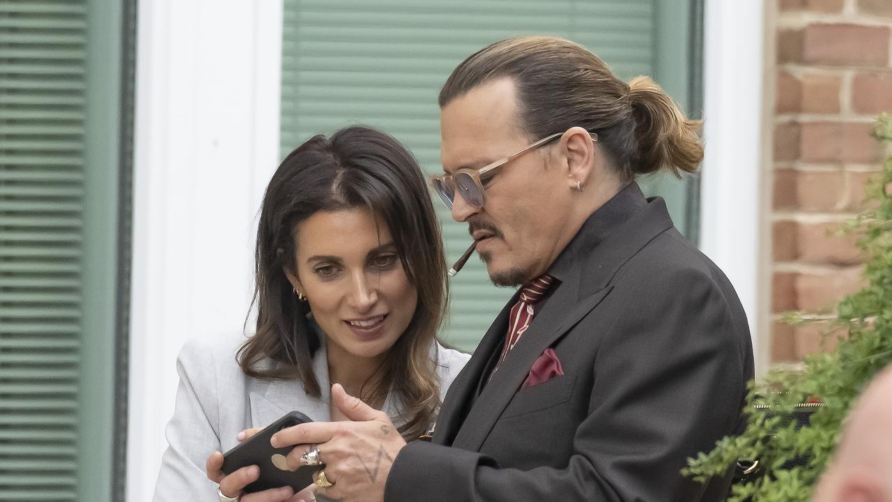
[[[442, 164], [447, 174], [479, 169], [540, 138], [526, 137], [516, 112], [511, 79], [471, 89], [442, 109]], [[490, 279], [518, 286], [548, 271], [566, 245], [564, 220], [571, 193], [554, 160], [558, 140], [510, 160], [484, 180], [485, 203], [477, 208], [456, 194], [452, 218], [467, 222]]]

